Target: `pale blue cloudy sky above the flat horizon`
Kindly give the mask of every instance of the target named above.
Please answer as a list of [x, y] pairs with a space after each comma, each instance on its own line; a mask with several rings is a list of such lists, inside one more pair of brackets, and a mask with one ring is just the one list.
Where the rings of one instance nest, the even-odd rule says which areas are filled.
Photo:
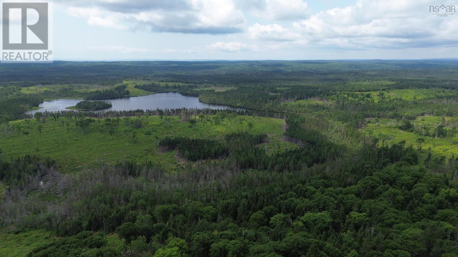
[[[458, 58], [449, 0], [54, 0], [54, 59]], [[440, 13], [445, 12], [441, 10]]]

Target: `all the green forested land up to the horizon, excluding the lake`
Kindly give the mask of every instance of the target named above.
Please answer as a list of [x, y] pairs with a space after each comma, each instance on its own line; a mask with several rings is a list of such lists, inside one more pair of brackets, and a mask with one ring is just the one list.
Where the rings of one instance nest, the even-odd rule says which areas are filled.
[[[0, 74], [0, 256], [458, 257], [456, 60]], [[169, 91], [243, 109], [38, 109]]]

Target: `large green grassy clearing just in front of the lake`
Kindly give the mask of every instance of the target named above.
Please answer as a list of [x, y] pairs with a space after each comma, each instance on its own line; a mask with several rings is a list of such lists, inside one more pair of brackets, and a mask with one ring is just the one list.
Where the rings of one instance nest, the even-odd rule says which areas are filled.
[[[14, 121], [10, 125], [21, 126], [20, 132], [16, 129], [15, 132], [4, 134], [3, 128], [0, 130], [3, 158], [8, 160], [25, 154], [49, 156], [56, 160], [64, 171], [75, 171], [91, 164], [115, 163], [122, 160], [155, 161], [163, 164], [168, 170], [174, 170], [181, 165], [174, 157], [175, 152], [157, 152], [159, 140], [165, 136], [220, 139], [227, 133], [248, 131], [252, 134], [267, 134], [269, 143], [263, 144], [262, 147], [270, 152], [297, 147], [282, 140], [283, 119], [237, 116], [232, 119], [225, 118], [220, 124], [214, 124], [213, 117], [207, 116], [198, 121], [193, 128], [189, 128], [189, 123], [181, 122], [178, 117], [169, 117], [169, 125], [166, 118], [161, 119], [158, 116], [140, 119], [143, 127], [133, 129], [126, 126], [121, 118], [112, 136], [107, 133], [104, 120], [96, 120], [90, 131], [85, 134], [75, 127], [74, 122], [67, 127], [65, 118], [58, 121], [49, 118], [47, 123], [31, 120], [29, 128], [25, 120]], [[248, 126], [250, 122], [253, 124], [251, 129]], [[42, 126], [41, 133], [38, 131], [39, 125]], [[29, 134], [24, 135], [24, 131]], [[133, 134], [136, 135], [136, 140], [133, 139]]]

